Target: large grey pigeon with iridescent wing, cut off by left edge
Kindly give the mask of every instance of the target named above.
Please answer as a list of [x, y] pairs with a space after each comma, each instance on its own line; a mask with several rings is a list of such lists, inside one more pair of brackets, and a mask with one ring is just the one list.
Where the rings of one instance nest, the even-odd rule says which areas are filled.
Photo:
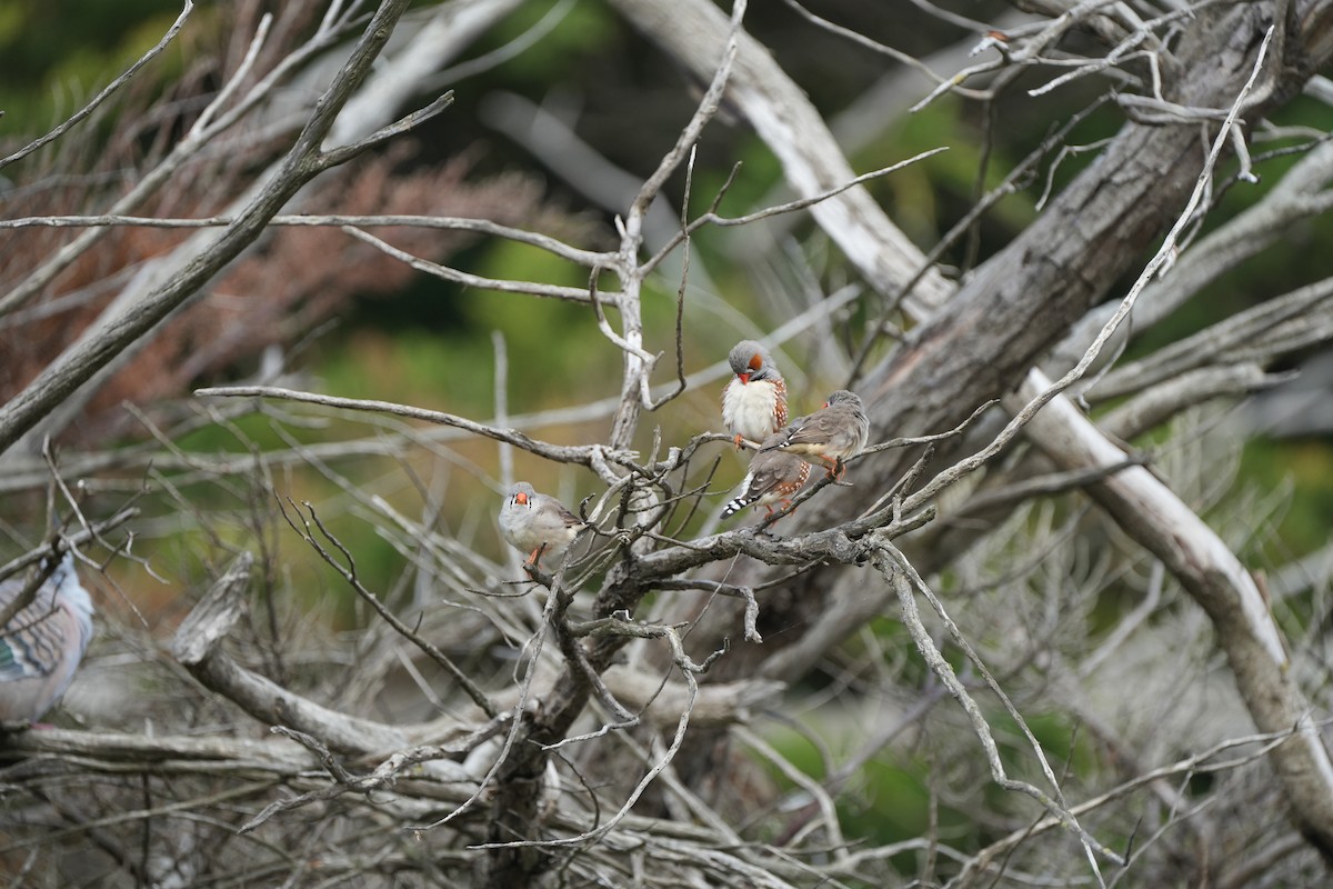
[[[23, 592], [0, 582], [0, 609]], [[0, 630], [0, 722], [36, 722], [64, 694], [92, 638], [92, 598], [68, 552], [32, 602]]]

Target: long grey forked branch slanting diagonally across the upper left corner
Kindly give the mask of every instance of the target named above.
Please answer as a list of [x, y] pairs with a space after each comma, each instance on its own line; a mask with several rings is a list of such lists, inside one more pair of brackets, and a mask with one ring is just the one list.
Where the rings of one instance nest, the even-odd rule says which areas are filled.
[[[112, 320], [104, 335], [71, 349], [29, 383], [12, 401], [0, 408], [0, 453], [32, 429], [44, 416], [68, 399], [81, 384], [116, 359], [177, 307], [193, 296], [217, 272], [251, 245], [267, 228], [268, 220], [300, 188], [335, 163], [351, 160], [356, 153], [380, 144], [399, 132], [389, 127], [369, 139], [324, 152], [320, 144], [328, 135], [339, 111], [352, 91], [365, 77], [375, 57], [384, 48], [393, 25], [408, 0], [383, 0], [353, 48], [347, 64], [333, 76], [333, 83], [316, 103], [315, 112], [301, 129], [296, 144], [273, 179], [247, 204], [232, 225], [171, 280], [148, 293], [125, 315]], [[443, 111], [435, 103], [432, 112]], [[419, 123], [420, 119], [411, 119]]]

